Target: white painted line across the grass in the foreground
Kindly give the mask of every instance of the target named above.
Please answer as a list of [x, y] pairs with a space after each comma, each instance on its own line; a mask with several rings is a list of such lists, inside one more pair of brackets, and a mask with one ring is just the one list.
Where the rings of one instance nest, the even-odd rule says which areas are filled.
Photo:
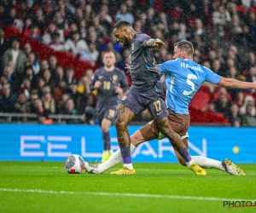
[[251, 201], [255, 199], [225, 199], [214, 197], [195, 197], [195, 196], [178, 196], [178, 195], [161, 195], [150, 193], [93, 193], [93, 192], [72, 192], [72, 191], [52, 191], [42, 189], [20, 189], [20, 188], [0, 188], [0, 192], [9, 193], [52, 193], [52, 194], [83, 194], [83, 195], [99, 195], [99, 196], [123, 196], [123, 197], [140, 197], [140, 198], [153, 198], [153, 199], [195, 199], [195, 200], [208, 200], [208, 201]]

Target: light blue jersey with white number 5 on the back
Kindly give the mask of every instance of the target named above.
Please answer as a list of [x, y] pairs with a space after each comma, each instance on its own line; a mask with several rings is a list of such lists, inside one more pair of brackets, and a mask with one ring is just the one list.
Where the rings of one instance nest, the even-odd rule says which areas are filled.
[[177, 114], [189, 114], [189, 102], [205, 81], [218, 83], [220, 76], [193, 60], [168, 60], [159, 65], [166, 73], [166, 106]]

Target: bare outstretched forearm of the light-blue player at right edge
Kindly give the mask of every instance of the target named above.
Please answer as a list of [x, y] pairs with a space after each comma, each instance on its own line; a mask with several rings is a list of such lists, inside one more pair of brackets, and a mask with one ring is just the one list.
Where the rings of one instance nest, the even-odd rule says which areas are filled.
[[218, 82], [218, 86], [240, 88], [240, 89], [256, 89], [256, 81], [252, 83], [252, 82], [238, 81], [233, 78], [220, 78], [220, 81]]

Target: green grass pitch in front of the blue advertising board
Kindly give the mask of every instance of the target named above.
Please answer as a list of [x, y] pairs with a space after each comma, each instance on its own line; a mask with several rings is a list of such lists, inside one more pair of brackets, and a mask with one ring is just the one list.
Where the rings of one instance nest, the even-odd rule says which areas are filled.
[[247, 176], [195, 176], [179, 164], [137, 163], [135, 176], [110, 175], [120, 166], [70, 175], [64, 163], [0, 162], [0, 212], [256, 212], [224, 207], [256, 200], [256, 164], [239, 164]]

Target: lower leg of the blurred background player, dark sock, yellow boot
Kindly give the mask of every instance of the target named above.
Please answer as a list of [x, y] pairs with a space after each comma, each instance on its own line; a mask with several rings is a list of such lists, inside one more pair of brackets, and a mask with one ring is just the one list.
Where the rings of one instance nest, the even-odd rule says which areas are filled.
[[104, 162], [108, 160], [108, 158], [113, 154], [113, 151], [110, 147], [110, 135], [109, 135], [109, 127], [111, 125], [111, 120], [107, 118], [102, 119], [101, 130], [102, 130], [102, 137], [104, 143], [104, 151], [102, 153], [102, 161]]

